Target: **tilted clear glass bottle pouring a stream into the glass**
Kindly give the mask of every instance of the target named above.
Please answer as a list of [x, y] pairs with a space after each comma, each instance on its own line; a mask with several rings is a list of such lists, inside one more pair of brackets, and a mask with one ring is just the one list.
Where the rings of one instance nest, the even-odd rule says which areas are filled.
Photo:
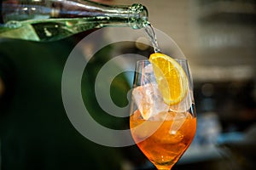
[[60, 40], [104, 26], [148, 25], [141, 4], [111, 6], [80, 0], [0, 0], [0, 37], [38, 42]]

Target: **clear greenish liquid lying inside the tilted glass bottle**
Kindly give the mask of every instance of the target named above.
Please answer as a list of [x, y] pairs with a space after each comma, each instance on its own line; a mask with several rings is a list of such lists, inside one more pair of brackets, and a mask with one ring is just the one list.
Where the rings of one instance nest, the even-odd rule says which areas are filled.
[[50, 42], [94, 28], [128, 24], [125, 19], [109, 17], [9, 21], [0, 29], [0, 37]]

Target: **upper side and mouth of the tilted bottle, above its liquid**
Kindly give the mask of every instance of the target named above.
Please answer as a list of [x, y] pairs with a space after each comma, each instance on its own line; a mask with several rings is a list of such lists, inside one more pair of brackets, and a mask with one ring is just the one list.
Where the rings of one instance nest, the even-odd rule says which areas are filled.
[[[148, 10], [141, 4], [111, 6], [78, 0], [0, 0], [0, 23], [11, 20], [45, 20], [52, 18], [90, 18], [109, 20], [107, 25], [131, 26], [134, 29], [148, 25]], [[113, 23], [111, 23], [113, 22]]]

